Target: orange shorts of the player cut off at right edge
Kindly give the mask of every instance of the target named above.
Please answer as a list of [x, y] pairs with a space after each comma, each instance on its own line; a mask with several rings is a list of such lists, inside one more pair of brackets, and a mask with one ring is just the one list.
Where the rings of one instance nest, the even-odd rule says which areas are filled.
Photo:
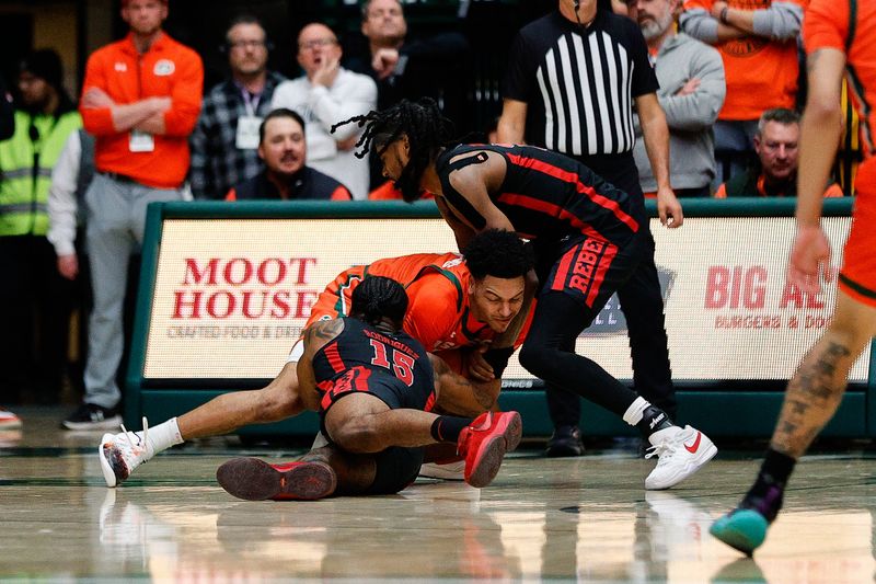
[[858, 302], [876, 307], [876, 159], [858, 168], [855, 193], [838, 285]]

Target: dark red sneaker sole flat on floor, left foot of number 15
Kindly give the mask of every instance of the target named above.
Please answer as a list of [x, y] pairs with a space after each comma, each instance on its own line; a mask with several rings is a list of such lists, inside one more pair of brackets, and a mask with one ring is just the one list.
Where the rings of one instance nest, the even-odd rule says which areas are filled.
[[257, 458], [232, 458], [216, 470], [229, 494], [246, 501], [312, 501], [335, 492], [337, 477], [324, 462], [268, 465]]

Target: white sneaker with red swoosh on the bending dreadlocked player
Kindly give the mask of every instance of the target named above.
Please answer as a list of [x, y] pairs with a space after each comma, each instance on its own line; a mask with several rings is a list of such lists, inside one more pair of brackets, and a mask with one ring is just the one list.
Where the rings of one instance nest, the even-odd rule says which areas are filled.
[[652, 447], [645, 458], [659, 457], [657, 466], [645, 479], [645, 489], [669, 489], [680, 483], [712, 460], [718, 449], [708, 436], [696, 428], [668, 427], [648, 437]]

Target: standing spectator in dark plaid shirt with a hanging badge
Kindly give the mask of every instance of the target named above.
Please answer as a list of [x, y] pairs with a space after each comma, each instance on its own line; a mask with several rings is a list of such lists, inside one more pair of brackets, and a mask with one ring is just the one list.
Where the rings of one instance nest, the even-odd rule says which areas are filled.
[[258, 174], [258, 126], [270, 111], [281, 75], [268, 71], [269, 45], [258, 19], [237, 16], [226, 33], [231, 78], [207, 96], [192, 133], [189, 181], [195, 198], [221, 199], [234, 184]]

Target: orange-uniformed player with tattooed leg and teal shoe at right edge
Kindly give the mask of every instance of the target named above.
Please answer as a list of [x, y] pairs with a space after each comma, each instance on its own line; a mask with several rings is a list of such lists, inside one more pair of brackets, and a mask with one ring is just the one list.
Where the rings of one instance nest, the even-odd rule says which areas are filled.
[[819, 278], [829, 267], [821, 201], [842, 135], [843, 72], [858, 106], [868, 158], [855, 178], [857, 199], [833, 319], [788, 382], [754, 484], [736, 509], [712, 525], [713, 536], [749, 556], [763, 543], [782, 508], [797, 459], [835, 413], [852, 365], [876, 335], [876, 159], [868, 144], [876, 123], [876, 1], [812, 0], [804, 21], [804, 43], [809, 89], [800, 133], [797, 234], [787, 278], [806, 293], [819, 291]]

